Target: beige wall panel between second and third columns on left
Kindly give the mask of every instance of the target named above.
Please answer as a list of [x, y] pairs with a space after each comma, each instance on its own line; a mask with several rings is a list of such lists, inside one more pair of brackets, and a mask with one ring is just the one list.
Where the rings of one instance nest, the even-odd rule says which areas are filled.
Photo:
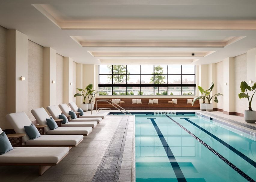
[[64, 103], [64, 57], [56, 54], [56, 105]]

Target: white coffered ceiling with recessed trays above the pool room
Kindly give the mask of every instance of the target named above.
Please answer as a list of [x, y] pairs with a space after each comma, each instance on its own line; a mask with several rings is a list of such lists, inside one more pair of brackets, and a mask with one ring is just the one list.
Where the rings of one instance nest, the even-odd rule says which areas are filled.
[[256, 47], [255, 0], [0, 0], [0, 4], [1, 26], [17, 29], [78, 63], [208, 64]]

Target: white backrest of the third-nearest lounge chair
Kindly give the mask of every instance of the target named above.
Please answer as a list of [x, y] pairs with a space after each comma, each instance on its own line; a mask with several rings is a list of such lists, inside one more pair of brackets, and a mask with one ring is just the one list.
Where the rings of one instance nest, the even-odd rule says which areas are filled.
[[[48, 115], [48, 113], [46, 112], [46, 110], [43, 107], [37, 108], [37, 109], [32, 109], [31, 113], [33, 114], [33, 116], [35, 117], [35, 119], [39, 125], [47, 125], [46, 118], [49, 119], [50, 116]], [[49, 131], [49, 130], [50, 130], [50, 128], [48, 126], [44, 127], [45, 133], [47, 133], [47, 131]]]

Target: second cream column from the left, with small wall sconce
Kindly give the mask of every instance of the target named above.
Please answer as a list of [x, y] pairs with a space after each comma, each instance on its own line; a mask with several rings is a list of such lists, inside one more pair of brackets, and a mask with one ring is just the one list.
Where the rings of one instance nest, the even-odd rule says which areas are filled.
[[43, 106], [46, 109], [47, 106], [56, 104], [56, 51], [53, 48], [44, 47], [43, 54]]

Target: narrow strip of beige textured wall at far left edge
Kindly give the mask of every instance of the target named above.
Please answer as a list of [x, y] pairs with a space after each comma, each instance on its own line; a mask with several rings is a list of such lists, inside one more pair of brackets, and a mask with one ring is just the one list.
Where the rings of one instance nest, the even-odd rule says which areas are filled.
[[5, 129], [6, 115], [6, 36], [7, 29], [0, 26], [0, 128]]

